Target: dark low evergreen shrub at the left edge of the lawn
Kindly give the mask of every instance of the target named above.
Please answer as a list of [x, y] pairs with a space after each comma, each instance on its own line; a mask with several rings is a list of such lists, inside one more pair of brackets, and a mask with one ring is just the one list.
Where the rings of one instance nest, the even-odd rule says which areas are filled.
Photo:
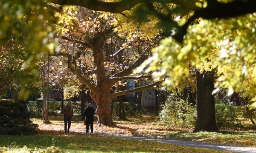
[[36, 133], [37, 124], [30, 121], [25, 101], [0, 100], [0, 134], [29, 135]]

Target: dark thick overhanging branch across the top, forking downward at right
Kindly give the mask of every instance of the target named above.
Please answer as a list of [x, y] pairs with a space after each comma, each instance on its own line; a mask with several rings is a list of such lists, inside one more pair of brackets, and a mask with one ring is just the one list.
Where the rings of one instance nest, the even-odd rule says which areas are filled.
[[[121, 13], [140, 3], [158, 2], [161, 4], [177, 4], [183, 9], [184, 12], [195, 12], [187, 23], [181, 27], [177, 26], [177, 24], [175, 24], [175, 22], [171, 19], [169, 19], [169, 22], [167, 22], [174, 24], [174, 26], [178, 29], [178, 32], [173, 37], [179, 42], [183, 41], [184, 35], [186, 35], [187, 27], [198, 17], [205, 19], [220, 19], [256, 12], [256, 0], [234, 0], [230, 3], [221, 3], [217, 0], [207, 0], [206, 8], [197, 7], [195, 3], [200, 3], [200, 1], [197, 0], [121, 0], [119, 2], [103, 2], [98, 0], [49, 0], [49, 2], [60, 5], [82, 6], [92, 10], [112, 13]], [[149, 11], [149, 13], [156, 15], [155, 11]], [[157, 14], [157, 16], [161, 19], [166, 18], [158, 12]]]

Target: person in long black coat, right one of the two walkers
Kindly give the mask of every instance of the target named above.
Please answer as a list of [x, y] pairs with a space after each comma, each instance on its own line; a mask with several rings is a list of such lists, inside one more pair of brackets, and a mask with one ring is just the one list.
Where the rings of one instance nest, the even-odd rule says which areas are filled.
[[94, 121], [94, 108], [91, 102], [88, 103], [88, 106], [84, 109], [84, 116], [86, 120], [86, 133], [89, 131], [89, 126], [91, 133], [93, 133], [93, 121]]

